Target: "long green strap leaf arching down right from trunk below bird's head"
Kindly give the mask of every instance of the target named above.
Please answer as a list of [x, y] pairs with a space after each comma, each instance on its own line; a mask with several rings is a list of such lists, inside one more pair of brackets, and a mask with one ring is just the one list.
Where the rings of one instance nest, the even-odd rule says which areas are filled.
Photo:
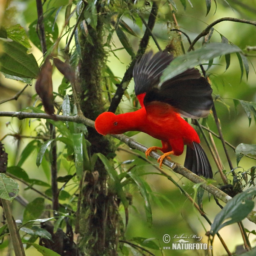
[[114, 182], [114, 186], [115, 186], [115, 189], [116, 189], [116, 194], [121, 199], [122, 204], [124, 205], [125, 209], [128, 209], [129, 203], [128, 203], [128, 200], [125, 196], [125, 192], [122, 190], [122, 185], [120, 183], [120, 180], [118, 178], [118, 174], [117, 174], [116, 170], [113, 168], [113, 166], [111, 166], [107, 157], [105, 157], [101, 153], [97, 153], [96, 155], [102, 161], [102, 163], [105, 166], [106, 171], [108, 172], [108, 175], [110, 176], [111, 180]]

